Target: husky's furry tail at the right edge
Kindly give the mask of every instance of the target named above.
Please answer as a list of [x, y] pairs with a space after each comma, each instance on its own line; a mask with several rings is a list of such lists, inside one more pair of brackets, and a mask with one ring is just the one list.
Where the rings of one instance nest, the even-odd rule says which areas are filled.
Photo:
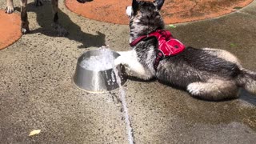
[[256, 73], [254, 71], [242, 69], [241, 74], [238, 75], [237, 83], [238, 86], [256, 95]]

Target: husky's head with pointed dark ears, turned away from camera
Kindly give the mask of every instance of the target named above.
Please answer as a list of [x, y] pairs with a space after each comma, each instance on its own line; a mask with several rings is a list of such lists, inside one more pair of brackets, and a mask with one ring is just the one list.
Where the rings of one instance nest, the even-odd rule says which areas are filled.
[[154, 2], [133, 0], [132, 6], [126, 7], [126, 14], [130, 17], [130, 34], [136, 37], [163, 29], [164, 22], [159, 14], [163, 3], [164, 0]]

